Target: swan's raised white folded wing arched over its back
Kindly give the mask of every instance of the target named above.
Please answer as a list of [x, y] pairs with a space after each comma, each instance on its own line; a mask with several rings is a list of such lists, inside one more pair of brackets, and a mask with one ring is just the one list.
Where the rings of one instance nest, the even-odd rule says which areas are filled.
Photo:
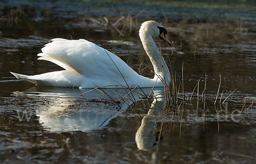
[[[87, 40], [66, 40], [55, 38], [38, 54], [42, 60], [49, 60], [64, 69], [74, 69], [85, 77], [121, 77], [136, 73], [123, 60]], [[114, 65], [114, 63], [118, 67]]]

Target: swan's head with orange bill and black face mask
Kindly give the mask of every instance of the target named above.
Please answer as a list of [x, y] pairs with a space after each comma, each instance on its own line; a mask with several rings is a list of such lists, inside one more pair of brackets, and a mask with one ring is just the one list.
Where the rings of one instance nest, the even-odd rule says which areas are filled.
[[143, 36], [145, 34], [151, 35], [151, 37], [158, 37], [169, 45], [172, 44], [166, 37], [167, 30], [163, 27], [163, 25], [154, 20], [148, 20], [142, 23], [139, 35]]

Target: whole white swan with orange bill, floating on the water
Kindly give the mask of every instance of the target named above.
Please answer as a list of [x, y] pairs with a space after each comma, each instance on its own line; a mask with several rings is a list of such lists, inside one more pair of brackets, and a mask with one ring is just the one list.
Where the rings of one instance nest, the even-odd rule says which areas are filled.
[[46, 44], [42, 48], [42, 53], [38, 54], [40, 56], [38, 60], [51, 61], [65, 70], [33, 76], [11, 73], [16, 78], [44, 86], [121, 88], [139, 85], [140, 87], [153, 87], [154, 85], [164, 86], [163, 81], [169, 86], [168, 67], [153, 40], [153, 37], [159, 37], [171, 45], [166, 34], [166, 29], [156, 21], [146, 21], [140, 27], [140, 40], [154, 66], [153, 79], [137, 74], [119, 57], [94, 43], [84, 39], [61, 38], [52, 39], [51, 43]]

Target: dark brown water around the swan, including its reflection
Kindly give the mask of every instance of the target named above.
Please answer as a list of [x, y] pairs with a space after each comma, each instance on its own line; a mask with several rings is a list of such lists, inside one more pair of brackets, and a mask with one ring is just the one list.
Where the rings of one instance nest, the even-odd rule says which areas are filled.
[[[255, 11], [253, 2], [240, 0], [1, 1], [0, 163], [254, 164]], [[112, 26], [121, 16], [116, 27], [123, 36]], [[61, 70], [36, 55], [62, 37], [90, 40], [152, 78], [138, 37], [140, 23], [151, 19], [173, 42], [162, 50], [177, 90], [183, 64], [184, 102], [181, 88], [177, 104], [163, 95], [147, 101], [150, 89], [123, 100], [124, 89], [82, 97], [87, 89], [34, 86], [9, 73]]]

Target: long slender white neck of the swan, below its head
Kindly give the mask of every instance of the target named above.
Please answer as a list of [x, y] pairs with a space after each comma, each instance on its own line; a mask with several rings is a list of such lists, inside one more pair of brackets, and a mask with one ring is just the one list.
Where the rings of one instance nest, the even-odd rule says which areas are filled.
[[143, 47], [145, 49], [145, 52], [147, 53], [149, 59], [151, 60], [151, 63], [154, 67], [154, 79], [157, 78], [160, 80], [160, 78], [166, 81], [166, 83], [169, 85], [170, 83], [170, 72], [166, 65], [166, 62], [164, 61], [163, 56], [160, 54], [159, 49], [157, 48], [157, 45], [155, 44], [153, 38], [151, 35], [148, 34], [147, 30], [144, 28], [140, 29], [140, 40], [143, 44]]

